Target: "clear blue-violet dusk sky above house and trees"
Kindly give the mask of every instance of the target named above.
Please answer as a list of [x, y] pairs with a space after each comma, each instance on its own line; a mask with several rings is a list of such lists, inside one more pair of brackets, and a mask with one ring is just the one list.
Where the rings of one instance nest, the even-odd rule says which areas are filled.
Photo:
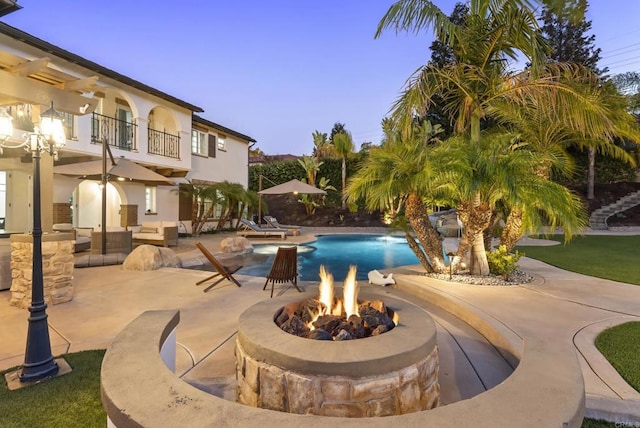
[[[374, 40], [391, 0], [19, 0], [4, 22], [202, 107], [267, 154], [311, 154], [342, 122], [356, 148], [430, 57], [431, 33]], [[436, 0], [447, 14], [455, 0]], [[169, 6], [169, 7], [167, 7]], [[640, 1], [591, 0], [600, 66], [640, 71]]]

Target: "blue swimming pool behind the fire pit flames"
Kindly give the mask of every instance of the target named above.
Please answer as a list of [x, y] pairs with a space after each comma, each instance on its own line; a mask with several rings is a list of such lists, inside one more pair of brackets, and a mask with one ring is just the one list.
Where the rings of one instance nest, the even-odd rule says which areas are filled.
[[[286, 246], [286, 244], [281, 244]], [[245, 256], [237, 273], [266, 276], [273, 263], [278, 245], [255, 245], [254, 253]], [[324, 265], [337, 283], [342, 283], [350, 265], [358, 268], [358, 280], [366, 280], [373, 269], [418, 264], [407, 241], [388, 235], [322, 235], [316, 242], [298, 246], [298, 279], [319, 280], [320, 265]]]

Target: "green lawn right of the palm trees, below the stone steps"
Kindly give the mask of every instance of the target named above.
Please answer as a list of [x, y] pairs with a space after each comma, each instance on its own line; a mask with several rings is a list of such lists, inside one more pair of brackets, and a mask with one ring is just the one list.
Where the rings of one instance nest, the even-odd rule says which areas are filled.
[[[564, 235], [545, 237], [564, 242]], [[597, 278], [640, 285], [640, 236], [578, 236], [568, 244], [516, 249], [550, 265]]]

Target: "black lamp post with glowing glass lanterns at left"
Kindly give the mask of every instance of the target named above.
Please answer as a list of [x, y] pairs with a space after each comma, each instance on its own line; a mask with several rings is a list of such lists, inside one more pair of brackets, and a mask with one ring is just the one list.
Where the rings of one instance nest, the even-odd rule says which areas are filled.
[[[42, 221], [40, 209], [40, 155], [48, 151], [57, 156], [58, 150], [66, 142], [62, 115], [51, 107], [40, 115], [40, 127], [28, 133], [18, 144], [8, 143], [13, 134], [11, 120], [6, 112], [0, 112], [0, 153], [2, 147], [24, 148], [33, 158], [33, 265], [31, 275], [31, 305], [29, 306], [29, 329], [24, 365], [20, 372], [21, 382], [35, 382], [58, 373], [58, 365], [51, 354], [47, 304], [44, 301], [44, 274], [42, 272]], [[8, 126], [6, 125], [8, 123]], [[11, 132], [9, 132], [11, 131]], [[2, 135], [6, 134], [6, 135]]]

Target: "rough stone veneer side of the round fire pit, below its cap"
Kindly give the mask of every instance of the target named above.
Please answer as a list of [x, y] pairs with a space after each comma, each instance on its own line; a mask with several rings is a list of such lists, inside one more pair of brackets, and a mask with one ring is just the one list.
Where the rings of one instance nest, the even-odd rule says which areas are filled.
[[239, 403], [340, 417], [391, 416], [438, 406], [438, 348], [402, 370], [371, 377], [295, 373], [257, 361], [236, 342]]

